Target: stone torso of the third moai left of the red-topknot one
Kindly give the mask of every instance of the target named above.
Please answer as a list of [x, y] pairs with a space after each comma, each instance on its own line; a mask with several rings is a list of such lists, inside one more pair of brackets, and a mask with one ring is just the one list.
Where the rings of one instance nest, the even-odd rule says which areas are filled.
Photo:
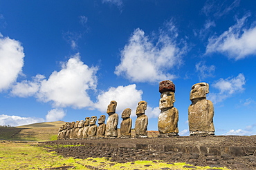
[[118, 114], [111, 114], [109, 118], [107, 118], [106, 136], [118, 136]]

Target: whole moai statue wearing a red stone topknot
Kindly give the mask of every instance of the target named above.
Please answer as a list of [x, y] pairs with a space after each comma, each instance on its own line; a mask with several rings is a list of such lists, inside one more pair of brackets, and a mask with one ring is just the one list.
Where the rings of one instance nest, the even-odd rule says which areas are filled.
[[179, 111], [174, 107], [174, 83], [172, 81], [161, 81], [159, 83], [159, 92], [161, 93], [159, 101], [161, 113], [158, 116], [159, 137], [177, 136], [179, 133]]

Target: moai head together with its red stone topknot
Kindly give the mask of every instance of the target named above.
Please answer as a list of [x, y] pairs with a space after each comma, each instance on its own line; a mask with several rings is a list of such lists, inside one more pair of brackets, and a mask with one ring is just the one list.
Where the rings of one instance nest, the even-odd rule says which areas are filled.
[[175, 85], [172, 81], [161, 81], [159, 83], [159, 92], [161, 99], [159, 100], [159, 109], [173, 107], [175, 102]]

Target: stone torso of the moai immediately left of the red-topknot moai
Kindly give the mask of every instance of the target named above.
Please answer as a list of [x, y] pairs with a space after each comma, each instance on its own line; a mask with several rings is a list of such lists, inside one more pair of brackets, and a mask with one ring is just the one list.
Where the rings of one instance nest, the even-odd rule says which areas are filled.
[[148, 118], [145, 114], [136, 118], [135, 132], [136, 136], [147, 136]]

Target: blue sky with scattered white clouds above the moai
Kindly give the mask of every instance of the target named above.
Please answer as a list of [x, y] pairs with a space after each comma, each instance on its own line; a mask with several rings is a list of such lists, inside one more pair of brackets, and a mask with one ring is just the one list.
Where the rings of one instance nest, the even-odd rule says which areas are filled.
[[[120, 115], [176, 85], [188, 135], [192, 85], [210, 85], [217, 135], [256, 134], [255, 1], [0, 1], [0, 125]], [[121, 118], [118, 127], [120, 127]]]

